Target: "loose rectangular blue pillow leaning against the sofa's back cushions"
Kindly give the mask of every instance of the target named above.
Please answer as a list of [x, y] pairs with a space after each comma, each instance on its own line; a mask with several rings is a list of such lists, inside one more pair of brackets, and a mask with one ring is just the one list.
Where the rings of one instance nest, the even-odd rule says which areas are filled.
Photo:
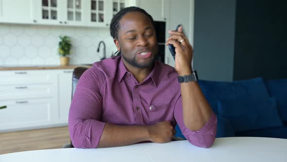
[[275, 98], [218, 101], [218, 112], [231, 122], [235, 132], [283, 126]]

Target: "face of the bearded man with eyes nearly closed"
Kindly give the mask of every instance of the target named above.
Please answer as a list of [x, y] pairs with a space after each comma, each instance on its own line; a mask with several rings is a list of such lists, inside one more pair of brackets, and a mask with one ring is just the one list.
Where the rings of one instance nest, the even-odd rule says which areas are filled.
[[115, 43], [124, 61], [137, 68], [151, 66], [158, 53], [155, 29], [141, 12], [127, 13], [120, 20], [118, 40]]

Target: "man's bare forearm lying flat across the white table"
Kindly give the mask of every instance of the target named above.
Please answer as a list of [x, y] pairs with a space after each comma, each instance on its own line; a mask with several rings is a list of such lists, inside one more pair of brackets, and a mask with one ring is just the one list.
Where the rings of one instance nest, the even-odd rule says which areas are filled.
[[98, 148], [124, 146], [148, 141], [146, 125], [114, 125], [106, 123]]

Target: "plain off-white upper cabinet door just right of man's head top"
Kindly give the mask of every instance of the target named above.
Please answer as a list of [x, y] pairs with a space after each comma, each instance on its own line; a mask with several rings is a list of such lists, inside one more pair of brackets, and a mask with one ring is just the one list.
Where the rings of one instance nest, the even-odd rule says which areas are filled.
[[151, 15], [154, 20], [166, 20], [165, 4], [169, 3], [169, 0], [138, 0], [137, 3], [137, 5]]

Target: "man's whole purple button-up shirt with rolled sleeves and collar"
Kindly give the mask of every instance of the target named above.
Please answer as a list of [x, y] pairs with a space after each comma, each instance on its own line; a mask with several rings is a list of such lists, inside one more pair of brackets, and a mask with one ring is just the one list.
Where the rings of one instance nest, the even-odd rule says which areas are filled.
[[105, 123], [152, 125], [160, 121], [179, 124], [184, 137], [199, 147], [215, 140], [216, 116], [198, 131], [183, 123], [180, 83], [175, 69], [156, 62], [142, 83], [126, 70], [121, 56], [93, 63], [80, 78], [69, 112], [72, 143], [96, 148]]

